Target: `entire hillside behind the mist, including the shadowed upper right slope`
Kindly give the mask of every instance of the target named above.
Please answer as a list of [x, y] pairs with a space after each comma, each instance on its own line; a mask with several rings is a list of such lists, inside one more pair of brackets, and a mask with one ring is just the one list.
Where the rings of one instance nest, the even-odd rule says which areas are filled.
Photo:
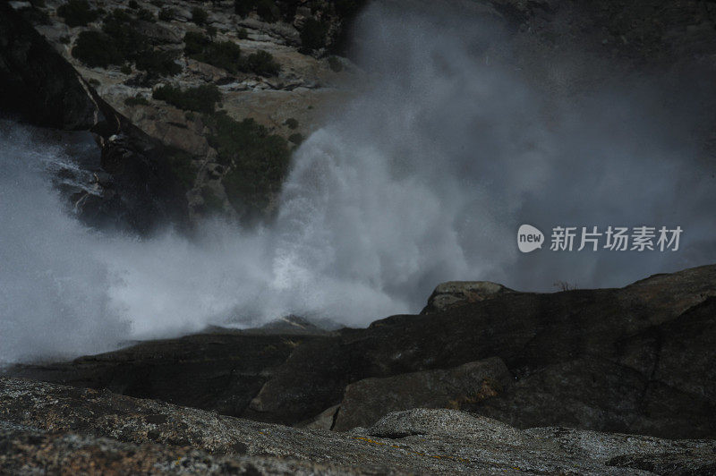
[[[385, 3], [489, 17], [508, 32], [490, 48], [492, 61], [516, 55], [525, 79], [562, 99], [657, 72], [671, 85], [666, 105], [701, 105], [694, 135], [704, 157], [716, 157], [716, 117], [707, 104], [716, 96], [712, 2]], [[0, 108], [21, 109], [39, 125], [92, 130], [103, 149], [120, 140], [117, 153], [106, 151], [111, 158], [90, 170], [98, 180], [84, 188], [95, 192], [69, 194], [91, 224], [110, 217], [146, 231], [217, 213], [265, 219], [276, 212], [291, 151], [364, 82], [341, 55], [365, 4], [13, 1], [2, 9], [3, 35], [15, 33], [0, 43]], [[686, 97], [675, 92], [685, 88]], [[141, 196], [144, 185], [150, 192]]]

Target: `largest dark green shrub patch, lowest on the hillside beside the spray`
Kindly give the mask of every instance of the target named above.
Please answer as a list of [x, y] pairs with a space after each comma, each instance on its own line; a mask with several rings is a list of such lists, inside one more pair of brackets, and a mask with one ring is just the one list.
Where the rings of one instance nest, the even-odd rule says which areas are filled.
[[212, 115], [209, 143], [219, 160], [230, 166], [224, 177], [229, 202], [244, 216], [265, 210], [281, 190], [288, 173], [290, 152], [286, 140], [253, 119], [234, 121], [226, 114]]

